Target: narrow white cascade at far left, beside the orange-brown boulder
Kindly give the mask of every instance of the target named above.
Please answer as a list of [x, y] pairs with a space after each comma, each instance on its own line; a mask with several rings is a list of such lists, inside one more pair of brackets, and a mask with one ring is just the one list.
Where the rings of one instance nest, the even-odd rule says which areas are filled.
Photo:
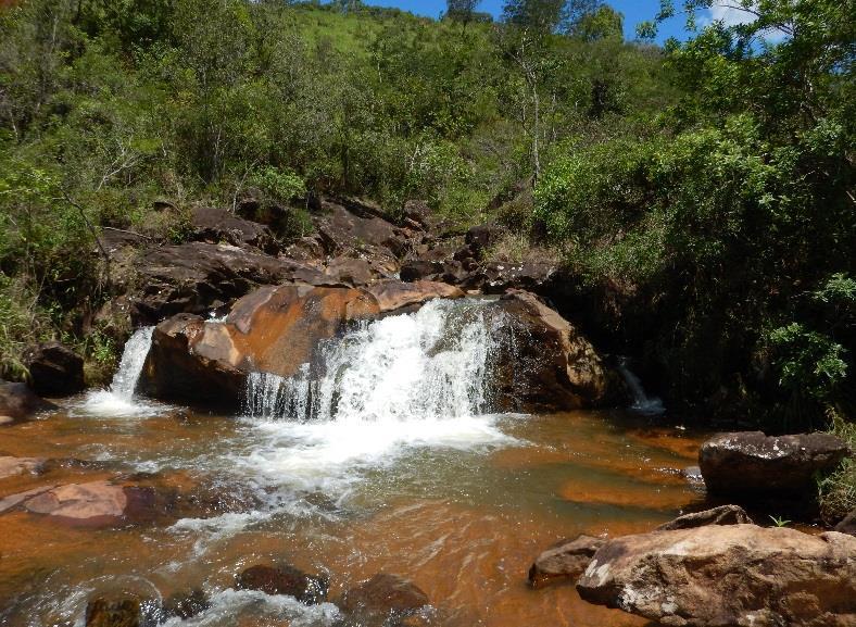
[[83, 409], [87, 413], [111, 416], [150, 414], [155, 405], [135, 398], [134, 392], [142, 374], [142, 366], [152, 346], [154, 327], [141, 327], [125, 343], [118, 369], [106, 390], [87, 394]]

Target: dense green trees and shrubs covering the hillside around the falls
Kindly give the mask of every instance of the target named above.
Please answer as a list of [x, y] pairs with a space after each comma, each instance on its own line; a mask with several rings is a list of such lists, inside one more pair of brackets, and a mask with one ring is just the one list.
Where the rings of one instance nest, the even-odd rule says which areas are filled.
[[498, 221], [561, 255], [672, 406], [852, 416], [852, 2], [746, 5], [665, 48], [591, 0], [509, 0], [495, 23], [471, 1], [441, 21], [355, 0], [3, 10], [2, 374], [48, 336], [111, 359], [100, 228], [180, 241], [192, 203], [252, 187], [294, 235], [319, 193]]

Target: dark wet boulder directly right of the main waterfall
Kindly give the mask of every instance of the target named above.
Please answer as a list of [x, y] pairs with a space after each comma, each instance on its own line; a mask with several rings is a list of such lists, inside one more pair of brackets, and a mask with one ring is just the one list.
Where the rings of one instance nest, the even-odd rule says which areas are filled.
[[520, 290], [511, 290], [498, 306], [505, 315], [495, 368], [503, 409], [549, 411], [615, 401], [624, 389], [620, 377], [574, 325]]

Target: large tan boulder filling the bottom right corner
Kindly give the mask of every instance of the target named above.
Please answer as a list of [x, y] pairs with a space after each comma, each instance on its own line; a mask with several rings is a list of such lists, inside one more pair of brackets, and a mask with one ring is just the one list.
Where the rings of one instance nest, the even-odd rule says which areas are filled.
[[625, 536], [594, 554], [586, 601], [674, 627], [856, 625], [856, 538], [710, 525]]

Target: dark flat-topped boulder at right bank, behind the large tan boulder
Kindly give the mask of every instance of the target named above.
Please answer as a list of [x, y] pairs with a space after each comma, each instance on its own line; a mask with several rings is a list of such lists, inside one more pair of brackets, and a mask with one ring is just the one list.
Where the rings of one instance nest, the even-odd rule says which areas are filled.
[[740, 431], [702, 444], [698, 465], [710, 493], [798, 499], [814, 492], [816, 473], [833, 469], [848, 454], [847, 446], [829, 434]]

